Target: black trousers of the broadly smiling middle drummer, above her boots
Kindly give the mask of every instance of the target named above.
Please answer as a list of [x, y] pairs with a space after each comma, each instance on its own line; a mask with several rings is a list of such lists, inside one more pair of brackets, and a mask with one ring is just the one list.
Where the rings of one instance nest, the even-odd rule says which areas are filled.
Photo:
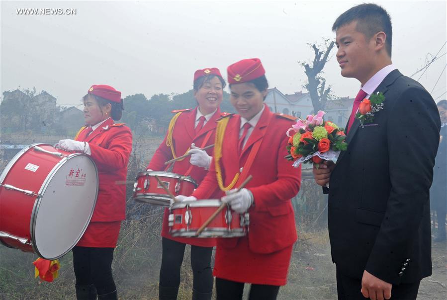
[[[160, 269], [160, 285], [162, 287], [179, 287], [180, 267], [183, 262], [185, 246], [186, 244], [163, 237], [162, 266]], [[192, 287], [199, 293], [207, 294], [213, 291], [212, 252], [213, 247], [191, 245]]]

